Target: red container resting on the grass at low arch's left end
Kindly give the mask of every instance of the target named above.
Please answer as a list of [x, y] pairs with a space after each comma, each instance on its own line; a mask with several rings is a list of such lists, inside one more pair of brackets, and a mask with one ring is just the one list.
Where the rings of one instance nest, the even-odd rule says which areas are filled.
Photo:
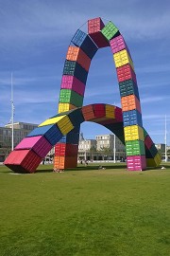
[[15, 150], [6, 158], [4, 164], [14, 172], [34, 173], [42, 157], [31, 150]]

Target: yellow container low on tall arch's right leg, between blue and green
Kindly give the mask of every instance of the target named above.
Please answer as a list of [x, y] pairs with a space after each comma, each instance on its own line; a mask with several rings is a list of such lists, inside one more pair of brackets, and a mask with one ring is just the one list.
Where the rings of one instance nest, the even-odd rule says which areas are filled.
[[144, 130], [138, 125], [124, 127], [125, 141], [140, 139], [144, 141]]

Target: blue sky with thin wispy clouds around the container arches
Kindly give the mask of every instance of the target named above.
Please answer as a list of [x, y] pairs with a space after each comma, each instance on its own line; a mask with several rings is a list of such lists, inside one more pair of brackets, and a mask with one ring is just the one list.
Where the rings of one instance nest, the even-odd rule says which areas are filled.
[[[112, 21], [123, 34], [135, 66], [144, 128], [155, 143], [170, 145], [170, 1], [0, 0], [0, 125], [10, 119], [13, 73], [15, 121], [41, 123], [57, 113], [67, 48], [88, 19]], [[86, 26], [82, 27], [86, 30]], [[120, 106], [110, 47], [99, 49], [91, 64], [84, 104]], [[85, 122], [86, 138], [110, 133]]]

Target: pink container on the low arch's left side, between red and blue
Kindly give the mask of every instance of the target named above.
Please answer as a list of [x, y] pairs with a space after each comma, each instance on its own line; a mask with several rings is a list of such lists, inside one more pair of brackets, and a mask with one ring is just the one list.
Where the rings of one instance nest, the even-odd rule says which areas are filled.
[[37, 155], [42, 158], [52, 149], [52, 145], [45, 137], [25, 137], [16, 147], [15, 150], [32, 149]]

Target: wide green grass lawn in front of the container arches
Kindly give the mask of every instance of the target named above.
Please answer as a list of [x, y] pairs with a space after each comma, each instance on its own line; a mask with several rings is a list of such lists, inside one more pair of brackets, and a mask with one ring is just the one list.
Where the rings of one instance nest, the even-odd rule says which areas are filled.
[[170, 165], [102, 164], [63, 174], [0, 166], [0, 255], [170, 255]]

